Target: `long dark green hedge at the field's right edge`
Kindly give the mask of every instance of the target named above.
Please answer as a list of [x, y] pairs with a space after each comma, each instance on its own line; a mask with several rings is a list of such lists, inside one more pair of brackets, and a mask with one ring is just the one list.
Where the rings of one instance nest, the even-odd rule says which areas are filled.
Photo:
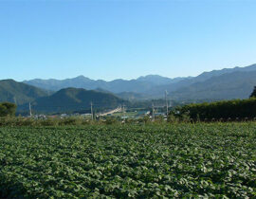
[[192, 103], [176, 108], [176, 115], [190, 118], [256, 118], [256, 98]]

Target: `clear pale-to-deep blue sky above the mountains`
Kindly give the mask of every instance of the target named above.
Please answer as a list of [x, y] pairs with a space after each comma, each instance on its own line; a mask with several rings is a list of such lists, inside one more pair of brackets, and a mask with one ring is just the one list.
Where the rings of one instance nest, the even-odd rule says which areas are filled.
[[255, 0], [0, 0], [0, 79], [170, 78], [256, 63]]

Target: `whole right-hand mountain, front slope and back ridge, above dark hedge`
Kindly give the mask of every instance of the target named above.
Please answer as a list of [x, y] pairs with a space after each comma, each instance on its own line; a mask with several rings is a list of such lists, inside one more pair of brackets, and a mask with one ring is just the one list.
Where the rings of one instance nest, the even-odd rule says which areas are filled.
[[256, 85], [256, 64], [247, 67], [212, 70], [201, 75], [158, 85], [151, 89], [152, 96], [163, 96], [165, 90], [172, 99], [247, 99]]

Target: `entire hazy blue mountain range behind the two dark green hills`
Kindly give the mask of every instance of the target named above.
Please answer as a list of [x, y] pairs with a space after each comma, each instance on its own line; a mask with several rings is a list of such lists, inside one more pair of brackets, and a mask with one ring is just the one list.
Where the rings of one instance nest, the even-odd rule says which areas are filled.
[[[123, 99], [163, 98], [165, 90], [172, 99], [245, 99], [256, 79], [256, 64], [247, 67], [225, 68], [204, 72], [197, 77], [166, 78], [158, 75], [125, 81], [94, 81], [83, 76], [74, 79], [24, 81], [46, 90], [57, 91], [66, 87], [99, 89], [112, 92]], [[236, 90], [237, 89], [237, 90]]]

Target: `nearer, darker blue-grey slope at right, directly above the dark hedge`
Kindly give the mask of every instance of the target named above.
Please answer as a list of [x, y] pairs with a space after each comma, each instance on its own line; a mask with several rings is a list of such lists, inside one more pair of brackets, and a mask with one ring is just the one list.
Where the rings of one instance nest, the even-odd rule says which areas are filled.
[[182, 87], [174, 99], [247, 99], [256, 85], [256, 71], [233, 72]]

